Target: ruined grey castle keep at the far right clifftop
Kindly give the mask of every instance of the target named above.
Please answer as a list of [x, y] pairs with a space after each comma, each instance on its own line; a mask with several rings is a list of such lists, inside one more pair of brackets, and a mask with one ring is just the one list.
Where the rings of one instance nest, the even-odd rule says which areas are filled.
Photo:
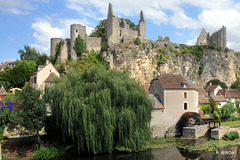
[[222, 27], [220, 30], [214, 32], [211, 36], [203, 28], [200, 36], [197, 38], [197, 45], [216, 44], [216, 46], [225, 49], [227, 47], [227, 32], [226, 27]]

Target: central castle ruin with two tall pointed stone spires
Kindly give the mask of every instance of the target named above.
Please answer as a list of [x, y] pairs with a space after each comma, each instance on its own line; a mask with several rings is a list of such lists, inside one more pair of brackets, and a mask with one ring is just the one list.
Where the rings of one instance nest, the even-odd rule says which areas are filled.
[[146, 21], [143, 11], [140, 12], [138, 28], [134, 31], [130, 29], [129, 24], [127, 24], [123, 18], [113, 15], [112, 4], [109, 3], [105, 33], [108, 45], [132, 42], [133, 38], [137, 37], [139, 37], [142, 42], [146, 39]]

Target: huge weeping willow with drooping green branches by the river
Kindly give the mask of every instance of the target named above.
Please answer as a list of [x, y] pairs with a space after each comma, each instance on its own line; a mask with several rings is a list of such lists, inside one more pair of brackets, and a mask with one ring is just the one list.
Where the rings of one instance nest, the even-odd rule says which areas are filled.
[[79, 154], [141, 150], [151, 137], [151, 101], [127, 72], [95, 67], [67, 73], [46, 97], [63, 140]]

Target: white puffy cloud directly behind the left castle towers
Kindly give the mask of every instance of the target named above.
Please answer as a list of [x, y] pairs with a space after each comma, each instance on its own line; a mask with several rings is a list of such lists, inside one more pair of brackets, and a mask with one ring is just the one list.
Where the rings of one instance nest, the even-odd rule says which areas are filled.
[[[55, 19], [54, 19], [55, 20]], [[41, 53], [50, 53], [51, 38], [69, 38], [71, 24], [90, 24], [86, 19], [57, 19], [54, 21], [51, 17], [37, 18], [32, 23], [34, 30], [33, 37], [35, 43], [30, 46], [36, 48]], [[86, 26], [87, 34], [91, 33], [93, 28]]]

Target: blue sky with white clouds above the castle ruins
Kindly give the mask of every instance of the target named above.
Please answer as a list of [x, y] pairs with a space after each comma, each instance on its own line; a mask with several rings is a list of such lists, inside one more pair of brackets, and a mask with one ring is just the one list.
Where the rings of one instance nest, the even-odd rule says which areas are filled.
[[138, 24], [143, 10], [146, 36], [169, 36], [174, 43], [195, 44], [204, 27], [212, 34], [227, 27], [227, 46], [240, 50], [240, 2], [237, 0], [0, 0], [0, 62], [19, 59], [24, 45], [50, 53], [50, 38], [69, 38], [73, 23], [87, 32], [106, 18], [109, 2], [114, 15]]

